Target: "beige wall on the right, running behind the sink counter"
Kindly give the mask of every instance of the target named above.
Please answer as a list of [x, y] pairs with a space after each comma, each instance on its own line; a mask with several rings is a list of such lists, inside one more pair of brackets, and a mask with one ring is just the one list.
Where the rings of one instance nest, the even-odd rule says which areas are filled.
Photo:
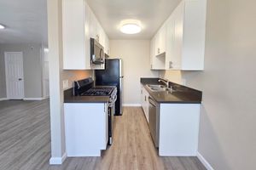
[[208, 0], [205, 71], [161, 73], [203, 91], [199, 152], [214, 169], [256, 169], [255, 6]]

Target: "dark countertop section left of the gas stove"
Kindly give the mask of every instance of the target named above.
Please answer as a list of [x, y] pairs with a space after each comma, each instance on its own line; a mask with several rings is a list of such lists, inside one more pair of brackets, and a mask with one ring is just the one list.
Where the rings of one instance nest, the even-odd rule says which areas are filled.
[[64, 103], [108, 103], [108, 96], [74, 96], [73, 88], [64, 91]]

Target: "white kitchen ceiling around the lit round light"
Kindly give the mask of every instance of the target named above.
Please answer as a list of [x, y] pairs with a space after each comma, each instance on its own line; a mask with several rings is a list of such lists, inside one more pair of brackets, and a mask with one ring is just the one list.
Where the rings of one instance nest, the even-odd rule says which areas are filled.
[[[160, 28], [181, 0], [87, 0], [110, 39], [148, 39]], [[125, 35], [121, 20], [141, 20], [143, 31]]]

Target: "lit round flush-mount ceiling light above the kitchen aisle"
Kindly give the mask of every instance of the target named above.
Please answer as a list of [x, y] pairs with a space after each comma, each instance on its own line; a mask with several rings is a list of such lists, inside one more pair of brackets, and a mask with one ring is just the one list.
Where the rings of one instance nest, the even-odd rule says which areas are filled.
[[123, 20], [120, 25], [120, 31], [125, 34], [137, 34], [142, 31], [142, 26], [138, 20]]

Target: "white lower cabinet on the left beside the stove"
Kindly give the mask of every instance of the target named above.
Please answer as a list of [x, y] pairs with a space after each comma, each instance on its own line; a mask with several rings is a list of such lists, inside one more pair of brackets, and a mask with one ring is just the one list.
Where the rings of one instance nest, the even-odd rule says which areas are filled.
[[67, 156], [101, 156], [108, 144], [108, 104], [65, 103]]

